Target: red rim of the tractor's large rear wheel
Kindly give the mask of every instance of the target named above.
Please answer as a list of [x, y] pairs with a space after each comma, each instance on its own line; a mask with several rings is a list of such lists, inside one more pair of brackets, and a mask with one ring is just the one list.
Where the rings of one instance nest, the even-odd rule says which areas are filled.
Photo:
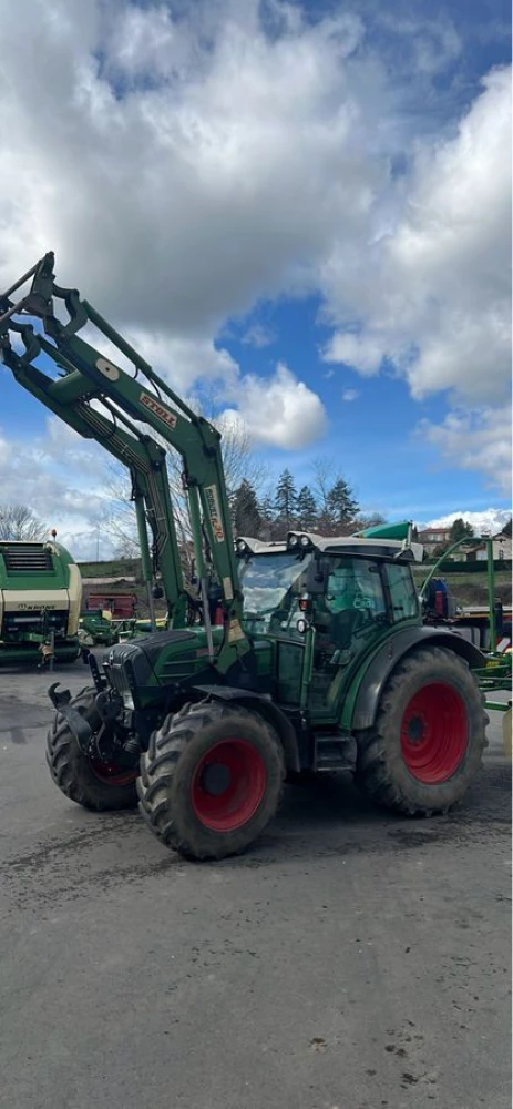
[[448, 782], [469, 743], [465, 705], [452, 685], [431, 682], [404, 709], [401, 749], [410, 774], [424, 785]]

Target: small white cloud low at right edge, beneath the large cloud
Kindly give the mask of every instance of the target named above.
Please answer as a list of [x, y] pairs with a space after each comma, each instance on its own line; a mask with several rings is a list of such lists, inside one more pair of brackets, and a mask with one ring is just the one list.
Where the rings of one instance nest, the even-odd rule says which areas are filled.
[[418, 434], [451, 466], [480, 470], [490, 486], [511, 488], [511, 407], [449, 413], [442, 424], [423, 420]]

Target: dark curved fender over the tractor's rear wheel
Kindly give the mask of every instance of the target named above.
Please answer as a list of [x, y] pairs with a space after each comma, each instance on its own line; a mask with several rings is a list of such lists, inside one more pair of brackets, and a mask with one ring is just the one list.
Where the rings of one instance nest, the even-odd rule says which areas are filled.
[[346, 705], [349, 710], [347, 726], [351, 732], [372, 728], [381, 690], [392, 670], [410, 651], [425, 645], [444, 647], [459, 654], [471, 668], [478, 669], [486, 664], [481, 651], [456, 632], [444, 628], [404, 628], [383, 643], [349, 689]]

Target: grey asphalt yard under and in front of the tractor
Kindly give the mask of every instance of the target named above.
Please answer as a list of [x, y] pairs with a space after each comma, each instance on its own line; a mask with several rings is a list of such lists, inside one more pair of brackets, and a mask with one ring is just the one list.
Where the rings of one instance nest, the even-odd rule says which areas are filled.
[[450, 815], [379, 813], [341, 775], [201, 865], [55, 788], [51, 680], [0, 674], [2, 1109], [510, 1109], [499, 714]]

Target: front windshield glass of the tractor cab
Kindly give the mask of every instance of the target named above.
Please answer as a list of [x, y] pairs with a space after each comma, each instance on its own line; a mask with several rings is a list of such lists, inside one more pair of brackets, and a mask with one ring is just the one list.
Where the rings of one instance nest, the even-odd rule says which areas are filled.
[[290, 625], [310, 561], [311, 554], [255, 554], [240, 560], [238, 580], [248, 631], [276, 634]]

